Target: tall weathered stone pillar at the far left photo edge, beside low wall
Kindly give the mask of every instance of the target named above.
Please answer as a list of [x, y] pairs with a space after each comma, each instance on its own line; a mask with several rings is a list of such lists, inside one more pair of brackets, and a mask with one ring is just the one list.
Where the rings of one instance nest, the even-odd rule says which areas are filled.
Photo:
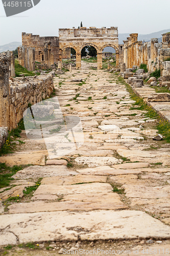
[[0, 54], [0, 126], [9, 126], [9, 61]]

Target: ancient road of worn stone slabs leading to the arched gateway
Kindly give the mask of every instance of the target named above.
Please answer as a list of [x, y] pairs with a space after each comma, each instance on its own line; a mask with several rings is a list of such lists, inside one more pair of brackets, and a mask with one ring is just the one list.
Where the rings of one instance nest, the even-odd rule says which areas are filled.
[[63, 115], [79, 116], [83, 126], [84, 144], [65, 157], [71, 164], [43, 166], [44, 142], [27, 138], [15, 160], [6, 160], [28, 155], [42, 166], [17, 172], [17, 186], [1, 190], [2, 200], [43, 179], [32, 198], [0, 207], [1, 245], [170, 238], [169, 144], [152, 139], [155, 120], [130, 110], [134, 101], [116, 75], [89, 67], [83, 62], [82, 70], [55, 78]]

